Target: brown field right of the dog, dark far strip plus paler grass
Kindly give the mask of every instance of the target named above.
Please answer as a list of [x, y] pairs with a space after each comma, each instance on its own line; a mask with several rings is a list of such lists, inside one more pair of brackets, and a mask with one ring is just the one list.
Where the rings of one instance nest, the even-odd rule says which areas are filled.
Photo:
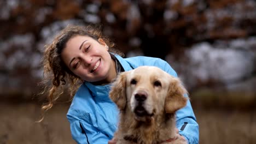
[[256, 143], [256, 95], [200, 89], [190, 95], [200, 143]]

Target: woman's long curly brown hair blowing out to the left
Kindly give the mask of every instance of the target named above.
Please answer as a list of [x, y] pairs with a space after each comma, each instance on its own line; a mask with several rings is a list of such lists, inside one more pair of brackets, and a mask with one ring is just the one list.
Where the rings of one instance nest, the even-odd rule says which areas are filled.
[[75, 35], [86, 35], [95, 40], [103, 39], [109, 46], [109, 52], [117, 53], [120, 56], [124, 56], [123, 53], [116, 49], [113, 49], [114, 43], [112, 43], [107, 37], [102, 34], [101, 26], [73, 26], [69, 25], [56, 35], [51, 44], [45, 45], [45, 51], [43, 54], [43, 81], [41, 84], [44, 86], [44, 91], [40, 94], [46, 94], [47, 102], [41, 107], [43, 111], [42, 118], [38, 121], [41, 122], [44, 118], [44, 113], [51, 109], [56, 103], [56, 100], [68, 87], [70, 93], [70, 100], [73, 98], [74, 93], [83, 82], [77, 75], [74, 75], [71, 70], [67, 68], [62, 61], [61, 52], [66, 47], [66, 43], [69, 39]]

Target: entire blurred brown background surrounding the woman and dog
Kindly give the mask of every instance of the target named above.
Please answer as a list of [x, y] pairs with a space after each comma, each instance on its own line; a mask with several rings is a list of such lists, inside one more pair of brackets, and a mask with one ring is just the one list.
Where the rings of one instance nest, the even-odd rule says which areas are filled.
[[200, 143], [256, 143], [254, 0], [0, 1], [0, 143], [75, 143], [70, 103], [35, 123], [36, 94], [44, 45], [68, 24], [89, 23], [102, 25], [125, 57], [159, 57], [177, 71]]

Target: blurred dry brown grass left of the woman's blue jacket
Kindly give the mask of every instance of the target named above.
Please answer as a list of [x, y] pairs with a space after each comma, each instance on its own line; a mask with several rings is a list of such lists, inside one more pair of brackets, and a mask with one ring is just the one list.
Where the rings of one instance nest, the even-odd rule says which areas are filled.
[[0, 143], [75, 143], [66, 119], [68, 106], [55, 106], [41, 123], [39, 106], [0, 104]]

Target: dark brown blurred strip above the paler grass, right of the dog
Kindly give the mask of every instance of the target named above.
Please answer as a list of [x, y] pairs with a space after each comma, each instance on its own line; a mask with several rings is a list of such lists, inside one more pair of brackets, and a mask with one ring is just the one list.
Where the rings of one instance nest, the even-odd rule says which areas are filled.
[[217, 91], [210, 88], [202, 88], [190, 94], [194, 107], [212, 108], [218, 107], [227, 110], [247, 111], [256, 109], [255, 92], [229, 92]]

